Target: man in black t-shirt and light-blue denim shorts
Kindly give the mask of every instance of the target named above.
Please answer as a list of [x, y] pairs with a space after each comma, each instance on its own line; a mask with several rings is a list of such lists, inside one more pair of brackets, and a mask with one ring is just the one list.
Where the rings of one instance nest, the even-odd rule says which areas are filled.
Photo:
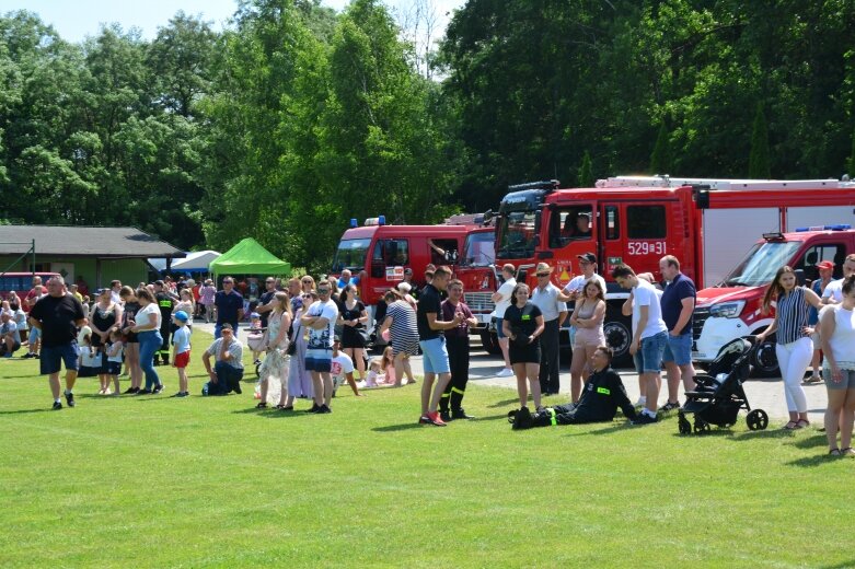
[[[446, 290], [450, 278], [451, 269], [446, 266], [439, 267], [434, 272], [432, 281], [425, 286], [416, 311], [418, 345], [424, 353], [423, 364], [425, 367], [425, 383], [421, 385], [421, 417], [418, 422], [437, 427], [446, 426], [437, 413], [437, 407], [442, 392], [446, 391], [448, 382], [451, 380], [451, 365], [448, 349], [446, 349], [446, 336], [442, 332], [455, 328], [465, 320], [465, 316], [460, 313], [454, 314], [454, 318], [448, 322], [439, 320], [442, 315], [440, 291]], [[439, 381], [437, 381], [431, 397], [430, 388], [434, 386], [434, 380], [437, 375], [439, 375]]]

